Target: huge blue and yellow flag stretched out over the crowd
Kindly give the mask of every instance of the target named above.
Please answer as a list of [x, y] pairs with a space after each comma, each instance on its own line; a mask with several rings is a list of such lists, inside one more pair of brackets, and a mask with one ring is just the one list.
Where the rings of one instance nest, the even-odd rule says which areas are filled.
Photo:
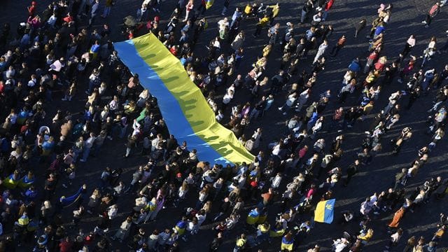
[[216, 163], [252, 162], [254, 157], [232, 131], [216, 122], [215, 114], [179, 59], [153, 34], [114, 43], [118, 56], [141, 85], [158, 99], [171, 134], [196, 148], [200, 160]]

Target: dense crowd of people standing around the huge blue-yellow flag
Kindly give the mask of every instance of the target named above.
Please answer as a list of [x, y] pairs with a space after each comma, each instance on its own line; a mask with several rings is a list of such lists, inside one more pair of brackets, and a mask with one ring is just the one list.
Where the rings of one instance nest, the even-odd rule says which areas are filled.
[[[407, 185], [419, 177], [444, 138], [448, 65], [440, 69], [427, 65], [446, 52], [448, 42], [437, 50], [437, 39], [428, 36], [430, 42], [420, 53], [413, 50], [416, 35], [405, 34], [409, 38], [400, 54], [384, 55], [393, 4], [381, 4], [366, 32], [367, 58], [360, 52], [340, 76], [336, 90], [316, 94], [326, 58], [336, 58], [350, 43], [349, 34], [335, 38], [332, 25], [325, 22], [331, 19], [333, 3], [304, 1], [297, 17], [303, 34], [297, 34], [297, 20], [276, 21], [281, 3], [235, 6], [229, 0], [179, 0], [173, 11], [162, 8], [172, 11], [162, 27], [162, 2], [145, 0], [132, 13], [136, 22], [125, 23], [126, 38], [151, 32], [179, 58], [216, 120], [255, 156], [251, 163], [222, 165], [202, 160], [200, 150], [170, 134], [158, 109], [158, 99], [163, 97], [153, 97], [141, 87], [138, 74], [120, 62], [111, 43], [111, 27], [100, 22], [119, 1], [55, 1], [41, 13], [32, 1], [24, 10], [28, 18], [18, 20], [25, 22], [20, 22], [16, 33], [11, 31], [14, 23], [3, 24], [0, 32], [4, 53], [0, 57], [0, 251], [114, 251], [128, 246], [139, 252], [175, 252], [189, 248], [189, 241], [207, 232], [206, 227], [215, 237], [204, 241], [204, 251], [219, 251], [225, 240], [232, 241], [235, 252], [262, 251], [271, 242], [280, 244], [275, 250], [297, 251], [306, 239], [311, 242], [316, 204], [333, 199], [336, 189], [349, 187], [380, 153], [390, 150], [391, 155], [400, 155], [417, 134], [412, 127], [398, 125], [402, 111], [435, 94], [429, 116], [424, 115], [430, 140], [419, 146], [416, 158], [391, 178], [390, 187], [366, 195], [358, 211], [335, 213], [333, 225], [357, 222], [357, 232], [344, 232], [332, 244], [306, 249], [318, 252], [320, 246], [332, 246], [339, 252], [367, 251], [375, 232], [386, 231], [374, 230], [372, 223], [381, 222], [375, 217], [379, 215], [393, 216], [384, 222], [390, 234], [384, 251], [404, 245], [402, 223], [407, 216], [421, 211], [423, 204], [437, 204], [433, 202], [447, 193], [448, 180], [442, 176], [428, 178], [416, 188]], [[207, 10], [221, 8], [220, 4], [223, 18], [217, 30], [210, 31]], [[442, 6], [444, 1], [430, 8], [423, 21], [426, 27]], [[253, 34], [241, 29], [243, 25], [253, 27]], [[357, 22], [355, 37], [365, 34], [366, 26], [365, 19]], [[216, 36], [204, 43], [206, 32]], [[246, 54], [255, 53], [246, 50], [249, 38], [265, 43], [254, 62], [247, 62]], [[204, 44], [207, 53], [197, 54]], [[269, 59], [274, 51], [281, 54], [280, 64]], [[251, 66], [250, 71], [244, 72], [244, 65]], [[276, 73], [269, 76], [269, 69]], [[387, 104], [380, 104], [384, 87], [396, 91]], [[281, 106], [273, 106], [274, 100]], [[353, 100], [357, 104], [349, 105]], [[82, 112], [65, 109], [80, 101], [86, 101], [77, 110]], [[324, 116], [330, 103], [339, 108]], [[379, 113], [372, 114], [378, 107]], [[276, 141], [266, 143], [262, 121], [272, 113], [288, 120], [281, 122]], [[354, 158], [344, 154], [344, 134], [365, 121], [370, 126], [359, 143], [360, 151]], [[325, 131], [337, 136], [328, 139]], [[99, 167], [97, 183], [75, 188], [73, 184], [80, 184], [78, 167], [88, 165], [92, 157], [102, 158], [104, 145], [118, 146], [116, 139], [125, 141], [125, 148], [116, 151], [123, 158], [141, 155], [147, 162], [132, 170], [130, 181], [123, 179], [123, 167]], [[342, 159], [351, 165], [342, 167]], [[76, 193], [56, 197], [57, 190]], [[129, 198], [132, 207], [120, 204]], [[160, 212], [172, 207], [185, 211], [170, 216], [172, 225], [155, 229]], [[67, 214], [69, 223], [63, 218]], [[85, 218], [94, 218], [90, 230], [81, 228]], [[112, 225], [114, 219], [121, 224]], [[447, 216], [440, 214], [433, 237], [410, 237], [404, 251], [435, 251], [447, 225]]]

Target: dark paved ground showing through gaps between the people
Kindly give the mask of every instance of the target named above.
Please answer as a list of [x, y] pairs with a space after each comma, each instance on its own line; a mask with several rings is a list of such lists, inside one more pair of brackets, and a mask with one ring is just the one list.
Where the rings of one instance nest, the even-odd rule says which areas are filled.
[[[43, 10], [45, 3], [48, 4], [49, 2], [50, 1], [48, 0], [39, 1], [39, 12]], [[113, 41], [121, 41], [124, 39], [119, 32], [120, 28], [118, 27], [118, 24], [120, 24], [125, 16], [135, 15], [140, 3], [141, 1], [117, 0], [116, 6], [114, 6], [111, 10], [111, 16], [106, 19], [106, 22], [109, 22], [111, 28], [113, 29], [113, 34], [111, 35]], [[303, 6], [302, 0], [281, 0], [280, 3], [281, 10], [279, 18], [276, 19], [276, 22], [281, 23], [282, 29], [288, 21], [297, 24], [299, 13]], [[332, 90], [332, 94], [335, 96], [337, 90], [340, 88], [340, 83], [342, 81], [342, 76], [346, 71], [346, 66], [348, 66], [354, 57], [365, 59], [367, 56], [367, 39], [365, 38], [365, 35], [370, 27], [367, 26], [358, 38], [353, 38], [353, 25], [358, 22], [360, 18], [366, 18], [367, 24], [370, 24], [370, 22], [372, 22], [375, 18], [375, 15], [377, 15], [379, 3], [381, 3], [381, 1], [378, 0], [335, 1], [335, 4], [328, 15], [328, 22], [326, 22], [333, 25], [335, 28], [335, 33], [329, 38], [330, 47], [336, 43], [337, 38], [339, 38], [342, 34], [346, 34], [347, 43], [346, 46], [339, 52], [339, 56], [337, 58], [328, 59], [325, 70], [318, 76], [318, 83], [316, 84], [315, 90], [313, 90], [313, 97], [309, 99], [310, 101], [315, 100], [316, 97], [318, 97], [318, 94], [328, 89]], [[417, 44], [411, 52], [413, 55], [421, 55], [423, 49], [426, 48], [426, 45], [428, 44], [430, 36], [437, 36], [437, 45], [439, 47], [441, 47], [446, 41], [447, 38], [445, 36], [445, 30], [447, 29], [447, 25], [444, 24], [446, 24], [448, 20], [446, 9], [448, 7], [443, 7], [440, 14], [437, 15], [435, 20], [433, 20], [433, 24], [429, 28], [425, 28], [420, 22], [423, 20], [426, 11], [433, 4], [433, 1], [400, 0], [391, 1], [391, 3], [394, 5], [393, 14], [391, 17], [391, 23], [387, 27], [384, 51], [381, 55], [387, 55], [388, 59], [395, 59], [398, 52], [402, 50], [402, 47], [405, 45], [405, 41], [407, 40], [409, 34], [416, 35]], [[27, 1], [1, 1], [0, 23], [3, 24], [3, 22], [11, 22], [13, 24], [13, 29], [15, 29], [15, 25], [17, 25], [18, 22], [22, 22], [26, 18], [27, 4]], [[172, 0], [162, 2], [162, 13], [160, 13], [162, 20], [166, 20], [169, 17], [175, 4], [176, 1]], [[239, 2], [238, 4], [240, 4], [240, 6], [244, 6], [246, 2]], [[228, 10], [229, 16], [233, 13], [233, 10], [235, 10], [236, 5], [237, 3], [235, 1], [231, 1], [230, 9]], [[198, 54], [201, 54], [204, 51], [204, 43], [208, 43], [211, 38], [216, 35], [216, 22], [221, 19], [221, 9], [221, 1], [216, 1], [214, 6], [210, 10], [207, 10], [206, 17], [209, 18], [209, 28], [204, 34], [201, 35], [202, 43], [196, 47]], [[151, 12], [150, 17], [153, 18], [153, 16], [154, 13]], [[96, 22], [97, 25], [100, 25], [103, 20], [97, 20]], [[295, 34], [303, 34], [308, 27], [309, 25], [297, 25]], [[255, 28], [254, 20], [247, 20], [244, 25], [242, 25], [242, 28], [246, 30], [246, 34], [248, 34], [248, 36], [246, 42], [244, 43], [246, 48], [246, 57], [244, 58], [243, 67], [239, 69], [239, 73], [246, 74], [256, 56], [260, 54], [262, 46], [267, 43], [267, 36], [265, 35], [266, 32], [263, 31], [260, 38], [253, 39], [251, 37], [251, 33]], [[311, 52], [311, 54], [312, 53], [313, 52]], [[269, 62], [267, 64], [268, 76], [272, 76], [274, 72], [278, 70], [279, 57], [281, 57], [280, 52], [275, 50], [272, 55], [269, 56]], [[445, 59], [446, 54], [435, 55], [435, 58], [427, 64], [426, 68], [435, 67], [437, 70], [441, 70], [442, 66], [447, 63]], [[300, 62], [300, 66], [309, 70], [311, 60], [312, 57], [308, 57], [308, 59]], [[373, 112], [379, 112], [382, 108], [384, 108], [384, 106], [386, 106], [387, 98], [391, 92], [402, 90], [403, 87], [404, 84], [398, 83], [396, 78], [393, 80], [391, 85], [384, 87], [381, 91], [379, 101], [377, 102], [377, 104], [380, 105], [375, 106]], [[80, 90], [82, 90], [82, 88], [80, 88]], [[223, 90], [221, 90], [221, 93], [223, 93]], [[247, 94], [248, 91], [246, 90], [237, 92], [236, 98], [232, 101], [232, 103], [235, 104], [243, 100], [244, 97], [247, 97]], [[60, 94], [55, 94], [55, 104], [72, 112], [81, 111], [83, 108], [83, 102], [85, 102], [86, 99], [85, 95], [82, 94], [82, 92], [79, 92], [78, 97], [76, 98], [80, 99], [80, 101], [67, 106], [66, 103], [57, 102], [60, 100], [59, 96]], [[426, 111], [430, 109], [430, 106], [432, 106], [434, 97], [435, 92], [430, 92], [427, 97], [421, 97], [412, 107], [412, 110], [402, 111], [398, 125], [395, 125], [393, 130], [388, 132], [386, 137], [382, 139], [384, 144], [383, 153], [374, 158], [372, 164], [367, 167], [363, 167], [363, 170], [354, 177], [348, 187], [342, 188], [340, 185], [335, 187], [335, 198], [337, 199], [335, 209], [336, 215], [338, 215], [340, 211], [346, 209], [358, 211], [360, 203], [367, 195], [372, 195], [374, 192], [386, 190], [389, 186], [391, 186], [395, 172], [398, 172], [398, 170], [402, 167], [408, 167], [409, 163], [416, 157], [417, 148], [427, 144], [430, 141], [430, 136], [425, 133], [425, 120], [426, 116], [428, 116]], [[402, 100], [402, 102], [407, 102], [407, 97]], [[261, 120], [253, 122], [248, 130], [246, 130], [247, 134], [251, 134], [256, 127], [262, 127], [264, 130], [262, 146], [267, 146], [269, 142], [279, 138], [279, 132], [282, 132], [284, 127], [283, 123], [289, 118], [289, 115], [282, 116], [281, 113], [277, 113], [276, 111], [276, 106], [281, 106], [283, 101], [284, 95], [277, 95], [273, 108], [268, 111]], [[354, 104], [358, 104], [358, 95], [353, 95], [353, 97], [351, 97], [351, 99], [349, 99], [344, 105], [349, 106]], [[330, 119], [332, 111], [334, 111], [337, 106], [339, 106], [339, 104], [335, 102], [333, 97], [324, 113], [328, 119]], [[343, 170], [351, 162], [353, 162], [353, 155], [360, 150], [360, 142], [363, 137], [363, 132], [367, 130], [367, 127], [371, 122], [372, 118], [368, 118], [364, 123], [357, 123], [353, 129], [344, 132], [346, 141], [344, 141], [343, 148], [345, 153], [342, 161], [337, 164], [339, 167], [342, 167]], [[319, 133], [318, 137], [325, 137], [325, 139], [330, 141], [330, 139], [335, 137], [337, 133], [333, 132], [330, 127], [326, 126], [328, 125], [324, 126], [325, 130]], [[398, 132], [400, 132], [402, 127], [406, 126], [414, 129], [412, 141], [405, 144], [398, 156], [391, 155], [391, 148], [388, 147], [386, 143], [395, 137]], [[442, 177], [447, 177], [448, 154], [446, 153], [446, 150], [447, 144], [442, 141], [442, 143], [437, 146], [435, 151], [430, 154], [428, 164], [423, 167], [423, 170], [419, 171], [416, 179], [411, 181], [411, 185], [408, 185], [409, 188], [419, 186], [429, 176], [440, 175]], [[121, 158], [124, 152], [124, 141], [115, 139], [113, 141], [107, 141], [104, 149], [102, 150], [101, 157], [90, 158], [87, 163], [79, 165], [80, 172], [78, 172], [78, 178], [76, 179], [78, 183], [75, 183], [75, 185], [68, 190], [59, 191], [58, 195], [69, 195], [72, 191], [78, 188], [80, 183], [87, 183], [90, 188], [93, 188], [94, 185], [97, 184], [102, 169], [106, 166], [123, 167], [125, 169], [124, 181], [125, 183], [129, 183], [132, 171], [136, 169], [137, 165], [144, 163], [145, 158], [133, 155], [129, 159], [124, 160]], [[41, 167], [41, 169], [45, 168], [46, 167]], [[183, 207], [193, 205], [196, 197], [197, 193], [191, 193], [188, 201], [178, 208], [168, 207], [167, 209], [162, 210], [158, 216], [158, 221], [144, 225], [144, 228], [147, 232], [152, 232], [154, 228], [174, 226], [176, 221], [178, 221], [181, 216]], [[119, 223], [123, 221], [123, 216], [127, 214], [127, 212], [123, 211], [130, 210], [130, 204], [133, 204], [133, 198], [120, 198], [118, 204], [121, 214], [119, 218], [113, 220], [111, 225], [111, 234], [113, 234], [114, 230], [118, 228]], [[218, 207], [219, 202], [216, 202], [214, 206]], [[423, 235], [427, 239], [430, 239], [433, 232], [435, 232], [435, 223], [438, 221], [438, 214], [441, 211], [444, 211], [447, 206], [448, 204], [446, 200], [442, 202], [431, 201], [429, 204], [416, 209], [414, 214], [407, 214], [402, 224], [402, 228], [405, 230], [405, 235], [403, 235], [397, 251], [402, 249], [402, 245], [405, 244], [405, 241], [412, 235], [416, 235], [417, 237]], [[271, 215], [273, 216], [276, 211], [279, 211], [278, 207], [273, 207], [270, 211]], [[71, 211], [65, 210], [64, 216], [66, 216], [68, 221], [71, 220]], [[306, 218], [306, 216], [301, 216], [301, 218]], [[363, 249], [363, 251], [383, 251], [384, 245], [388, 242], [385, 220], [391, 218], [391, 215], [381, 215], [375, 218], [376, 219], [372, 222], [372, 226], [375, 231], [374, 237], [370, 244]], [[241, 217], [241, 222], [244, 222], [244, 220], [245, 217]], [[81, 224], [85, 230], [92, 230], [95, 223], [96, 218], [91, 217], [84, 219]], [[199, 235], [195, 235], [192, 239], [190, 239], [190, 241], [188, 241], [188, 243], [180, 241], [182, 248], [181, 251], [207, 251], [209, 242], [213, 239], [214, 233], [207, 230], [207, 228], [210, 228], [210, 225], [204, 225], [202, 228], [203, 230], [200, 231]], [[307, 237], [307, 239], [305, 239], [304, 243], [300, 244], [298, 251], [304, 251], [305, 248], [314, 246], [316, 243], [320, 244], [324, 248], [323, 251], [328, 251], [330, 249], [331, 239], [340, 237], [344, 230], [348, 230], [353, 233], [358, 230], [358, 227], [356, 224], [342, 227], [337, 223], [333, 223], [332, 225], [318, 223], [315, 228], [311, 230], [311, 234]], [[71, 230], [70, 232], [74, 231]], [[240, 234], [240, 232], [241, 228], [232, 230], [230, 235], [226, 237], [220, 251], [231, 251], [232, 247], [235, 245], [235, 238]], [[114, 242], [113, 244], [116, 248], [120, 248], [122, 251], [127, 251], [125, 244], [119, 244], [118, 242]], [[444, 248], [443, 251], [445, 251], [447, 246], [447, 239], [444, 239], [440, 242], [440, 250], [437, 251], [442, 251], [442, 248]], [[265, 246], [262, 246], [263, 251], [279, 251], [279, 247], [279, 239], [274, 239], [270, 245], [265, 244]]]

